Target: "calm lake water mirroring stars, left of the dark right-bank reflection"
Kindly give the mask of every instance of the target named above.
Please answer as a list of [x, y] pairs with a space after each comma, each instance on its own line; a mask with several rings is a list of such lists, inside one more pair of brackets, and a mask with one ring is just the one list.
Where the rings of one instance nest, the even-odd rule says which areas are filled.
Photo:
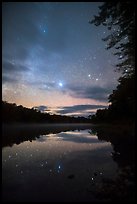
[[11, 127], [3, 135], [3, 201], [93, 201], [94, 186], [119, 170], [113, 146], [91, 125]]

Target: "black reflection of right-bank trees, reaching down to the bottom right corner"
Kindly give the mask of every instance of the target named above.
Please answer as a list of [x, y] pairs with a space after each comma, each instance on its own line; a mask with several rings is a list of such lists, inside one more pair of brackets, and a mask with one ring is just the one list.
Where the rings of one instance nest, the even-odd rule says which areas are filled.
[[95, 187], [95, 196], [104, 201], [135, 201], [134, 128], [94, 126], [91, 133], [112, 144], [112, 158], [119, 167], [115, 179], [104, 178]]

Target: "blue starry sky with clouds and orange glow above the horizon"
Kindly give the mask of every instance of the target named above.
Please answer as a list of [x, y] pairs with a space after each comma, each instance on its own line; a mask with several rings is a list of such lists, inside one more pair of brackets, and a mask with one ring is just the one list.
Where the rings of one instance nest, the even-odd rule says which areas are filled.
[[102, 2], [2, 4], [2, 99], [53, 114], [88, 116], [108, 106], [116, 56], [105, 26], [89, 24]]

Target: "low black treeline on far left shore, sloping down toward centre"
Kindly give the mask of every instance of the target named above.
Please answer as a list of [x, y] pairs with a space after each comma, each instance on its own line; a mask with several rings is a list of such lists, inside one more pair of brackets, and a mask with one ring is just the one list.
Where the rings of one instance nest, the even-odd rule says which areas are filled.
[[85, 117], [69, 117], [62, 115], [50, 115], [41, 113], [34, 108], [26, 108], [22, 105], [2, 101], [3, 123], [87, 123], [90, 119]]

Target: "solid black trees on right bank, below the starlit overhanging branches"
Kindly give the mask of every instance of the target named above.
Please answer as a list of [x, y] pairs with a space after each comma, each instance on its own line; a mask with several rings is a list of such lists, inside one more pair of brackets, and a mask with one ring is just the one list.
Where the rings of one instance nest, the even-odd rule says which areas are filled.
[[135, 77], [119, 79], [119, 85], [109, 96], [110, 105], [106, 109], [98, 109], [95, 115], [89, 116], [91, 121], [114, 122], [127, 121], [134, 122], [135, 118]]

